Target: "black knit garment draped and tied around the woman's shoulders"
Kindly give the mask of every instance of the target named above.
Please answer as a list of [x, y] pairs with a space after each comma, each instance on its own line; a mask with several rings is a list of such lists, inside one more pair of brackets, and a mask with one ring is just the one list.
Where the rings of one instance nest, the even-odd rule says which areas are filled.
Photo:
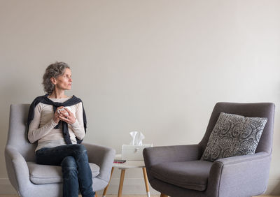
[[[68, 99], [64, 103], [57, 103], [53, 102], [50, 99], [48, 99], [48, 94], [45, 94], [44, 96], [38, 96], [34, 101], [31, 103], [30, 108], [29, 108], [29, 113], [28, 113], [28, 118], [27, 118], [27, 135], [28, 135], [28, 130], [29, 130], [29, 124], [34, 119], [34, 109], [38, 103], [44, 103], [46, 105], [52, 105], [53, 107], [53, 112], [57, 110], [58, 107], [60, 106], [71, 106], [71, 105], [76, 105], [77, 103], [82, 102], [82, 100], [78, 99], [76, 96], [72, 96], [71, 99]], [[83, 102], [82, 102], [83, 105]], [[59, 120], [57, 126], [55, 126], [55, 129], [59, 129], [59, 123], [62, 122], [62, 133], [63, 133], [63, 138], [65, 140], [66, 145], [71, 145], [71, 139], [68, 131], [68, 124], [64, 121]], [[87, 129], [87, 118], [85, 116], [85, 110], [83, 108], [83, 126], [85, 128], [85, 132]], [[28, 139], [28, 138], [27, 138]], [[81, 143], [83, 140], [79, 140], [76, 138], [77, 143]], [[30, 142], [29, 142], [30, 143]]]

